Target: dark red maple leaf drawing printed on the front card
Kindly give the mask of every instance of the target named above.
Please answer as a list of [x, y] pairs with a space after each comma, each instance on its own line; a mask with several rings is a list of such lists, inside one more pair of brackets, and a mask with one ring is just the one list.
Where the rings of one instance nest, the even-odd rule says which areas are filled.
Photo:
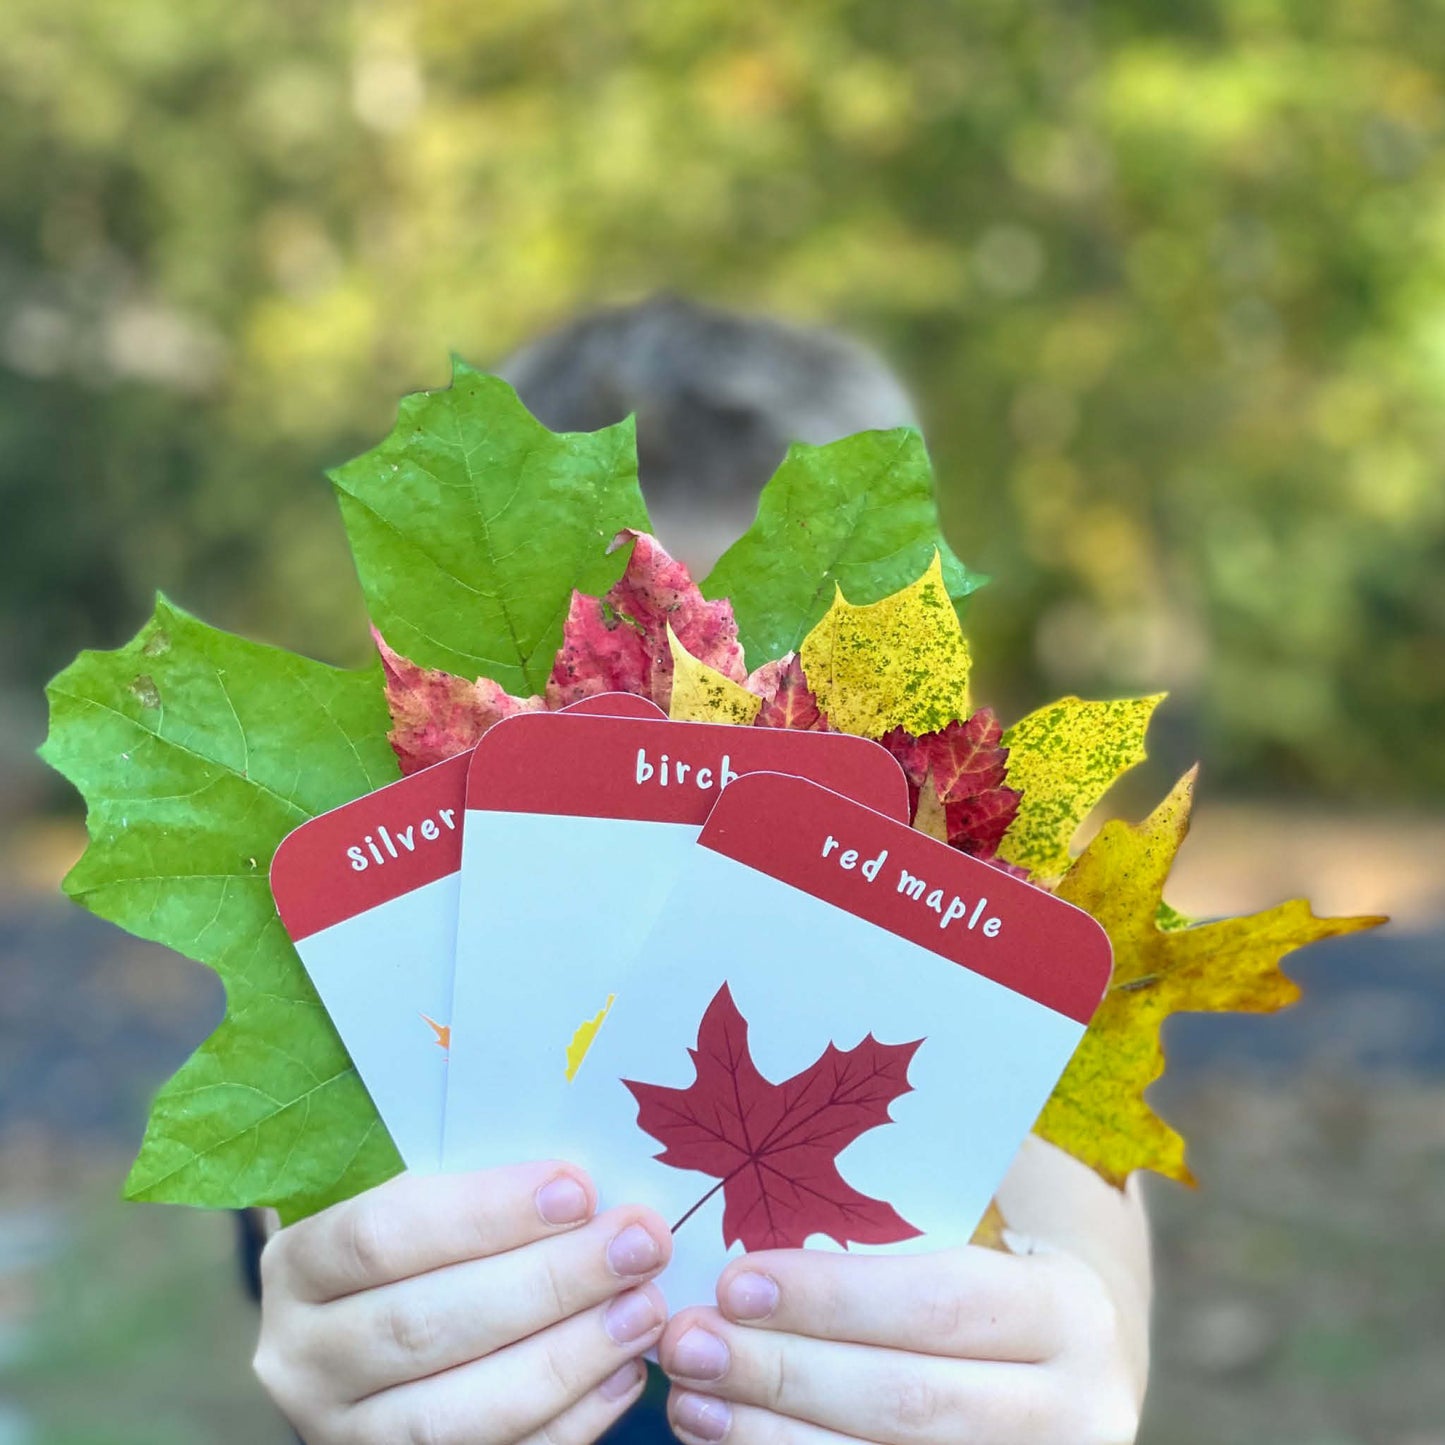
[[909, 1064], [922, 1039], [879, 1043], [870, 1033], [844, 1052], [829, 1043], [802, 1074], [763, 1078], [747, 1048], [747, 1020], [724, 984], [689, 1049], [696, 1079], [663, 1088], [623, 1079], [637, 1124], [666, 1144], [656, 1157], [720, 1182], [673, 1230], [722, 1191], [722, 1243], [749, 1250], [798, 1248], [809, 1234], [838, 1244], [892, 1244], [913, 1228], [890, 1204], [870, 1199], [838, 1173], [838, 1155], [892, 1121], [889, 1105], [912, 1091]]

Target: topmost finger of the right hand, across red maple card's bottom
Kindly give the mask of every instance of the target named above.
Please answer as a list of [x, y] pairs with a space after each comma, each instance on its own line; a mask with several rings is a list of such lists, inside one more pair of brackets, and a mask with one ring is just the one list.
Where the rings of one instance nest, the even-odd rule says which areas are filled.
[[958, 1360], [1052, 1360], [1066, 1344], [1075, 1263], [996, 1250], [746, 1254], [718, 1279], [740, 1324]]

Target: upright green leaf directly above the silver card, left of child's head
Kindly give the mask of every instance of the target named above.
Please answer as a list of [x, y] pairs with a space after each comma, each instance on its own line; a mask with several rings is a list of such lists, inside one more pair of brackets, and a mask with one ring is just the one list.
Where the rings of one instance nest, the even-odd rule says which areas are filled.
[[621, 572], [607, 545], [647, 529], [631, 419], [551, 432], [457, 361], [403, 399], [392, 435], [331, 473], [371, 621], [426, 668], [539, 692], [572, 588]]

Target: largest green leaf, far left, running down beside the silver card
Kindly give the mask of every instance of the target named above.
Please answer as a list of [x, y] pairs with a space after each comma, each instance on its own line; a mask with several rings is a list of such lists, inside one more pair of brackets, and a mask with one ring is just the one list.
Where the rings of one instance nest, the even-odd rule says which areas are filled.
[[396, 1173], [267, 880], [292, 828], [397, 776], [379, 669], [263, 647], [160, 598], [49, 699], [42, 756], [90, 806], [65, 892], [225, 983], [225, 1020], [156, 1098], [126, 1192], [293, 1218]]

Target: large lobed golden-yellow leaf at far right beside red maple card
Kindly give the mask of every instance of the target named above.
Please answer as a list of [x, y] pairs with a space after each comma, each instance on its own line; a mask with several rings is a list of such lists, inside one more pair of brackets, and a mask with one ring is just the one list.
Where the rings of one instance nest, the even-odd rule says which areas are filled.
[[1194, 772], [1144, 819], [1108, 822], [1058, 896], [1092, 913], [1114, 945], [1114, 977], [1035, 1131], [1123, 1188], [1136, 1169], [1192, 1183], [1183, 1140], [1144, 1103], [1163, 1072], [1159, 1029], [1172, 1013], [1272, 1013], [1299, 997], [1280, 958], [1383, 918], [1315, 918], [1302, 900], [1218, 923], [1159, 928], [1165, 879], [1189, 831]]

